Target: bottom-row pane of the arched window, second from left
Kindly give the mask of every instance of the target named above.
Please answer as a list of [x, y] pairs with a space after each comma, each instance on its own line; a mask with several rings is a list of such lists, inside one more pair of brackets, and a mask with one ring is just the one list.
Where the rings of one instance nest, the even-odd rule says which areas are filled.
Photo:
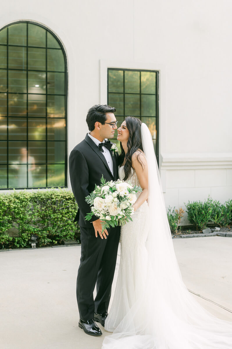
[[9, 165], [9, 188], [27, 188], [27, 165]]

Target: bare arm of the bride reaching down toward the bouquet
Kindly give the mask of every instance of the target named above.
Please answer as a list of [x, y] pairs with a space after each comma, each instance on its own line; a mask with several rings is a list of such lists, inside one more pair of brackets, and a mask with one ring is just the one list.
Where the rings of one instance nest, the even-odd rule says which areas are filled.
[[132, 155], [132, 166], [135, 170], [135, 173], [137, 174], [140, 186], [143, 190], [133, 205], [134, 210], [136, 211], [142, 205], [142, 203], [144, 203], [148, 199], [148, 166], [145, 156], [142, 153], [136, 151]]

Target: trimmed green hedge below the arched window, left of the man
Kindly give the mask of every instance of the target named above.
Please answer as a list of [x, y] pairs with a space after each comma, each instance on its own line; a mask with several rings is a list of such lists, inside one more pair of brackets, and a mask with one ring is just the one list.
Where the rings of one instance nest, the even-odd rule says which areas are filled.
[[78, 240], [77, 209], [73, 193], [61, 188], [0, 194], [0, 249], [31, 247], [31, 234], [38, 236], [36, 247]]

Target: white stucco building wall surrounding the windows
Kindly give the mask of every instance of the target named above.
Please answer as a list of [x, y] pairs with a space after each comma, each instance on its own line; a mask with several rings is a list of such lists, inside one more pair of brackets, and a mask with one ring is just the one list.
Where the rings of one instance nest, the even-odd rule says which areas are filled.
[[208, 194], [232, 198], [231, 14], [229, 0], [9, 0], [0, 27], [39, 22], [63, 43], [68, 154], [88, 131], [89, 107], [107, 103], [107, 66], [160, 70], [165, 203], [184, 207]]

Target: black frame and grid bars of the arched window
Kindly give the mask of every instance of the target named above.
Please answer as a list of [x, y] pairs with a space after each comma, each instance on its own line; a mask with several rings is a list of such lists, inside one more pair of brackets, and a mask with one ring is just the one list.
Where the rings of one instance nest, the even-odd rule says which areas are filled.
[[[27, 23], [27, 45], [12, 45], [10, 44], [10, 46], [17, 46], [17, 47], [26, 47], [27, 48], [27, 69], [13, 69], [13, 68], [10, 68], [9, 69], [9, 63], [8, 63], [8, 46], [9, 46], [9, 38], [8, 38], [8, 28], [11, 26], [11, 25], [14, 25], [14, 24], [19, 24], [19, 23]], [[11, 188], [9, 187], [9, 129], [8, 129], [8, 126], [9, 126], [9, 113], [8, 113], [8, 107], [9, 107], [9, 104], [8, 104], [8, 101], [9, 101], [9, 94], [25, 94], [24, 92], [9, 92], [8, 91], [8, 72], [9, 70], [21, 70], [21, 71], [26, 71], [27, 72], [27, 150], [28, 150], [28, 142], [33, 142], [33, 140], [29, 140], [28, 139], [28, 95], [30, 95], [30, 93], [28, 92], [28, 72], [29, 71], [33, 71], [33, 72], [41, 72], [41, 70], [36, 70], [36, 69], [28, 69], [28, 47], [33, 47], [33, 48], [41, 48], [41, 46], [30, 46], [28, 45], [28, 24], [34, 24], [34, 25], [37, 25], [39, 27], [42, 27], [43, 29], [46, 30], [46, 93], [44, 94], [46, 96], [46, 162], [45, 163], [36, 163], [36, 165], [46, 165], [46, 186], [45, 187], [28, 187], [28, 151], [27, 151], [27, 187], [14, 187], [14, 188]], [[0, 70], [7, 70], [7, 140], [5, 140], [7, 142], [7, 187], [6, 188], [0, 188], [0, 191], [6, 191], [6, 190], [23, 190], [23, 189], [49, 189], [49, 188], [67, 188], [68, 187], [68, 181], [67, 181], [67, 173], [68, 173], [68, 144], [67, 144], [67, 139], [68, 139], [68, 134], [67, 134], [67, 130], [68, 130], [68, 124], [67, 124], [67, 99], [68, 99], [68, 68], [67, 68], [67, 57], [66, 57], [66, 52], [65, 52], [65, 49], [61, 43], [61, 41], [59, 40], [59, 38], [54, 34], [54, 32], [52, 32], [50, 29], [48, 29], [47, 27], [45, 27], [44, 25], [40, 24], [40, 23], [37, 23], [37, 22], [34, 22], [34, 21], [16, 21], [16, 22], [13, 22], [13, 23], [10, 23], [8, 25], [5, 25], [4, 27], [2, 27], [0, 29], [0, 31], [4, 30], [7, 28], [7, 44], [1, 44], [3, 46], [7, 46], [7, 68], [0, 68]], [[60, 45], [60, 49], [62, 50], [63, 52], [63, 57], [64, 57], [64, 62], [65, 62], [65, 71], [64, 71], [64, 76], [65, 76], [65, 93], [64, 94], [59, 94], [59, 96], [64, 96], [65, 97], [65, 117], [64, 118], [61, 118], [61, 119], [65, 119], [65, 139], [62, 141], [60, 140], [59, 142], [65, 142], [65, 159], [64, 159], [64, 164], [65, 164], [65, 185], [64, 186], [47, 186], [47, 178], [48, 178], [48, 166], [49, 163], [47, 161], [47, 154], [48, 154], [48, 143], [50, 140], [47, 139], [47, 101], [48, 101], [48, 98], [47, 96], [58, 96], [58, 94], [51, 94], [51, 93], [47, 93], [47, 73], [57, 73], [58, 71], [55, 71], [55, 70], [47, 70], [47, 49], [49, 49], [49, 47], [47, 46], [47, 33], [50, 33], [54, 38], [55, 40], [57, 40], [58, 44]], [[58, 48], [55, 48], [53, 47], [53, 49], [57, 49], [57, 50], [60, 50]], [[58, 72], [60, 73], [60, 72]], [[4, 92], [3, 92], [4, 93]], [[53, 118], [51, 118], [53, 119]], [[53, 142], [55, 142], [55, 140], [51, 140]], [[0, 141], [1, 142], [1, 141]], [[56, 163], [51, 163], [51, 165], [55, 165]]]

